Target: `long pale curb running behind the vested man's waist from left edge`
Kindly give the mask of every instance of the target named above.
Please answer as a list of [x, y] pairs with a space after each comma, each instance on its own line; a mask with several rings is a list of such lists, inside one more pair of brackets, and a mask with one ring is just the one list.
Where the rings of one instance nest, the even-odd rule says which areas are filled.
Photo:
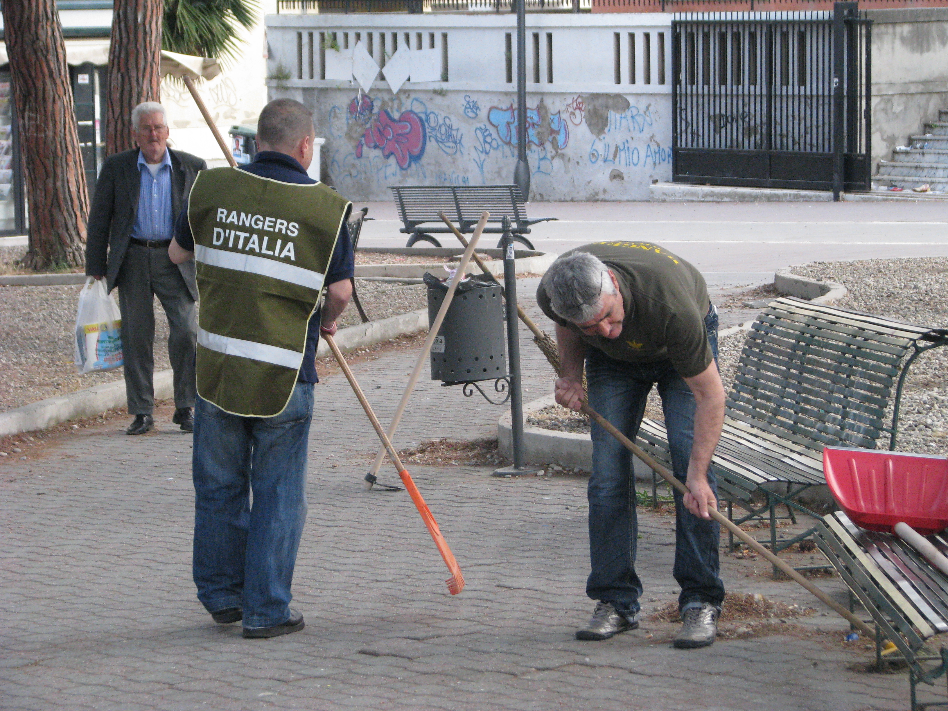
[[[428, 330], [428, 309], [393, 316], [390, 319], [360, 323], [339, 331], [336, 342], [343, 351], [352, 351], [389, 340]], [[320, 338], [316, 356], [329, 356], [329, 346]], [[155, 373], [155, 400], [170, 400], [174, 396], [171, 370]], [[0, 437], [20, 432], [31, 432], [59, 425], [67, 420], [92, 417], [124, 407], [125, 381], [102, 383], [78, 392], [46, 398], [22, 408], [0, 412]]]

